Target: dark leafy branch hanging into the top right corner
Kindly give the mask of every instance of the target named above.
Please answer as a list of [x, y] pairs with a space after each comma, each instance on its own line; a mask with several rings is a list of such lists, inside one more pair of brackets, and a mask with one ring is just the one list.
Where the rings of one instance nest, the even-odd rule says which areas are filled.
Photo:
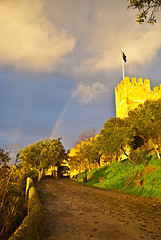
[[161, 7], [161, 0], [129, 0], [128, 8], [139, 10], [136, 21], [138, 23], [148, 22], [156, 23], [156, 12]]

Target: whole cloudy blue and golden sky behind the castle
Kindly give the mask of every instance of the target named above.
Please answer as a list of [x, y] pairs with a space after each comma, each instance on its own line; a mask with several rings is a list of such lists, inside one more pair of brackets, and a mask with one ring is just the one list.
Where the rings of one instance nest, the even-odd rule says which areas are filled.
[[62, 138], [115, 117], [125, 75], [161, 83], [161, 19], [138, 24], [126, 0], [0, 0], [0, 147]]

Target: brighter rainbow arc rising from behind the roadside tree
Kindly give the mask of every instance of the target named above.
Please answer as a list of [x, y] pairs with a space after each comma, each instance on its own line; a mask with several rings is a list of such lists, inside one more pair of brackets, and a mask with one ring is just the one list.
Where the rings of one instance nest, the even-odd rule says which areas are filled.
[[60, 113], [60, 115], [59, 115], [59, 117], [57, 118], [56, 123], [54, 124], [54, 127], [53, 127], [53, 129], [52, 129], [52, 132], [51, 132], [49, 138], [54, 138], [54, 137], [55, 137], [56, 132], [57, 132], [57, 130], [58, 130], [58, 128], [59, 128], [59, 125], [60, 125], [60, 123], [61, 123], [61, 120], [62, 120], [62, 118], [63, 118], [63, 116], [64, 116], [64, 113], [65, 113], [66, 109], [68, 108], [68, 106], [70, 105], [70, 103], [71, 103], [71, 101], [72, 101], [72, 98], [73, 98], [73, 95], [72, 95], [72, 96], [68, 99], [68, 101], [65, 103], [65, 105], [64, 105], [64, 107], [63, 107], [63, 109], [62, 109], [62, 111], [61, 111], [61, 113]]

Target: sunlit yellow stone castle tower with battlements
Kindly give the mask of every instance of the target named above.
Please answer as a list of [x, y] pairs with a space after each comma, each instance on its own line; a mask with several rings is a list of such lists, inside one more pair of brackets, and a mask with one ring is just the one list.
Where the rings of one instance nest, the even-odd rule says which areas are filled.
[[150, 88], [150, 80], [135, 77], [125, 77], [115, 88], [116, 117], [125, 118], [128, 112], [137, 108], [146, 100], [161, 98], [161, 84], [159, 87]]

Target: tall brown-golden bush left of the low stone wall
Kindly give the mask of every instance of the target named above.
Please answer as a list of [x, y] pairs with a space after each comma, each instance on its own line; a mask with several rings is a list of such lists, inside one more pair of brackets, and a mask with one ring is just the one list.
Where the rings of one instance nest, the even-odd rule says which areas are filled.
[[25, 179], [17, 167], [0, 169], [0, 239], [8, 239], [27, 213]]

